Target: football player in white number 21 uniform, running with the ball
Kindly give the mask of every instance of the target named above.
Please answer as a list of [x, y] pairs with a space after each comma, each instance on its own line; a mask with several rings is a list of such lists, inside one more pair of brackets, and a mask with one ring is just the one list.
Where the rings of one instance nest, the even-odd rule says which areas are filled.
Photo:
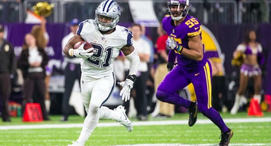
[[[133, 88], [140, 62], [133, 47], [133, 35], [127, 28], [117, 25], [121, 14], [117, 2], [103, 1], [95, 13], [95, 20], [81, 22], [76, 35], [63, 49], [67, 56], [82, 58], [81, 97], [88, 113], [81, 134], [73, 145], [84, 145], [99, 119], [116, 120], [124, 125], [127, 131], [133, 130], [132, 122], [127, 118], [122, 105], [114, 110], [103, 106], [115, 87], [113, 64], [120, 51], [130, 60], [130, 72], [127, 79], [118, 84], [123, 87], [122, 100], [130, 99], [130, 90]], [[89, 42], [93, 48], [84, 50], [83, 43], [78, 49], [73, 49], [79, 41]], [[93, 52], [89, 53], [92, 50]]]

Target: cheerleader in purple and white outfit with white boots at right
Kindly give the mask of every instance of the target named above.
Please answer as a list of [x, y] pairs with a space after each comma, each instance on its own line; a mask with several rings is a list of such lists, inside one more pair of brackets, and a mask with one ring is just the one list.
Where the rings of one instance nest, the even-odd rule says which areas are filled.
[[[234, 58], [243, 57], [243, 64], [240, 70], [240, 83], [238, 91], [235, 95], [234, 106], [231, 109], [231, 114], [236, 114], [240, 107], [241, 96], [244, 95], [248, 85], [249, 78], [254, 80], [254, 96], [253, 98], [261, 103], [261, 75], [262, 71], [260, 65], [264, 63], [264, 56], [262, 54], [262, 46], [256, 41], [255, 30], [249, 30], [246, 33], [245, 41], [239, 44], [233, 53]], [[243, 55], [244, 54], [244, 55]]]

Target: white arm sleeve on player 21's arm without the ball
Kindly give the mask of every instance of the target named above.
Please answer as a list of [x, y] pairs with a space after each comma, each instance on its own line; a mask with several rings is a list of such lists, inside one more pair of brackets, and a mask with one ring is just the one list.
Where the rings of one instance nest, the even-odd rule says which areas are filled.
[[137, 55], [137, 53], [135, 52], [135, 50], [125, 56], [128, 60], [130, 60], [130, 71], [129, 71], [129, 75], [135, 75], [137, 73], [138, 70], [138, 64], [140, 62], [139, 56]]

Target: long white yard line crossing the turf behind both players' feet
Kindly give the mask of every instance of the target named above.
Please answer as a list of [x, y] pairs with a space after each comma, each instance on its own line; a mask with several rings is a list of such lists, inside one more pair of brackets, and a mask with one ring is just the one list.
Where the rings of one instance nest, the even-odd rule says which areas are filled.
[[[271, 118], [237, 118], [224, 119], [225, 123], [247, 123], [247, 122], [271, 122]], [[198, 119], [196, 124], [211, 124], [209, 119]], [[148, 125], [184, 125], [188, 124], [188, 120], [169, 120], [169, 121], [144, 121], [133, 122], [134, 126], [148, 126]], [[0, 126], [0, 130], [9, 129], [37, 129], [37, 128], [82, 128], [83, 123], [80, 124], [38, 124], [38, 125], [5, 125]], [[122, 126], [114, 122], [101, 122], [98, 127], [112, 127]]]

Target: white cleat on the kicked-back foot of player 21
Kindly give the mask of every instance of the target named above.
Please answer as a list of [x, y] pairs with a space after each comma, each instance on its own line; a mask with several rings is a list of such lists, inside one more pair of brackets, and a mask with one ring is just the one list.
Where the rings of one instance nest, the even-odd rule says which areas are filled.
[[119, 111], [121, 113], [121, 119], [118, 120], [117, 122], [120, 123], [121, 125], [124, 125], [124, 127], [127, 129], [127, 131], [131, 132], [133, 130], [133, 125], [130, 119], [125, 114], [125, 109], [124, 106], [119, 105], [117, 108], [114, 109], [115, 111]]

